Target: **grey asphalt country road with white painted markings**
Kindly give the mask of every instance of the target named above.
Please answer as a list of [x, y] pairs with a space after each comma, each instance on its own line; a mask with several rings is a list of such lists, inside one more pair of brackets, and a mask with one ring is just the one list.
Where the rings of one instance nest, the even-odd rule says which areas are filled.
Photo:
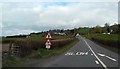
[[79, 37], [79, 42], [67, 52], [32, 64], [34, 67], [118, 67], [118, 54]]

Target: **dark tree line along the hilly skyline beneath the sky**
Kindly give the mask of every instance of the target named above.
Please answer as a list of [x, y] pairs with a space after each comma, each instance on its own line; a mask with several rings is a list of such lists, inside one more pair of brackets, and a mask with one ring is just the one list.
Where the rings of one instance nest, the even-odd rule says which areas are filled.
[[26, 38], [27, 36], [31, 36], [31, 35], [39, 35], [39, 34], [43, 34], [43, 33], [47, 33], [47, 32], [51, 32], [51, 33], [55, 33], [55, 32], [59, 32], [59, 33], [66, 33], [67, 35], [74, 35], [76, 33], [79, 33], [81, 35], [84, 34], [93, 34], [93, 33], [110, 33], [110, 34], [119, 34], [120, 33], [120, 24], [114, 24], [112, 26], [110, 26], [109, 23], [105, 23], [104, 27], [101, 27], [100, 25], [97, 25], [96, 27], [79, 27], [79, 28], [74, 28], [74, 29], [53, 29], [53, 30], [49, 30], [49, 31], [42, 31], [42, 32], [32, 32], [29, 35], [13, 35], [13, 36], [6, 36], [6, 38]]

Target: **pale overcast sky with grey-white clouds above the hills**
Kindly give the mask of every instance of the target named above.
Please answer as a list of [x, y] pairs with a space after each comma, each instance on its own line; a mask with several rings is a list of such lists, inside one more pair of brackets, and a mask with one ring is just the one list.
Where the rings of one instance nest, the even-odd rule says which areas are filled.
[[118, 23], [117, 2], [8, 2], [0, 8], [5, 36]]

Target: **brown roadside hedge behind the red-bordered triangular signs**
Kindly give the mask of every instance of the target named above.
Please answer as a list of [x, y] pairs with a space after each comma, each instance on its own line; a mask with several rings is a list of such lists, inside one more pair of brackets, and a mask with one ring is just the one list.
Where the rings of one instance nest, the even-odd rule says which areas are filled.
[[[60, 48], [64, 47], [67, 44], [70, 44], [73, 42], [76, 38], [68, 38], [68, 39], [62, 39], [62, 40], [51, 40], [51, 43], [53, 44], [51, 46], [52, 48]], [[14, 46], [20, 46], [18, 56], [26, 56], [31, 54], [33, 50], [38, 50], [45, 48], [45, 41], [39, 41], [39, 40], [17, 40], [14, 42]]]

